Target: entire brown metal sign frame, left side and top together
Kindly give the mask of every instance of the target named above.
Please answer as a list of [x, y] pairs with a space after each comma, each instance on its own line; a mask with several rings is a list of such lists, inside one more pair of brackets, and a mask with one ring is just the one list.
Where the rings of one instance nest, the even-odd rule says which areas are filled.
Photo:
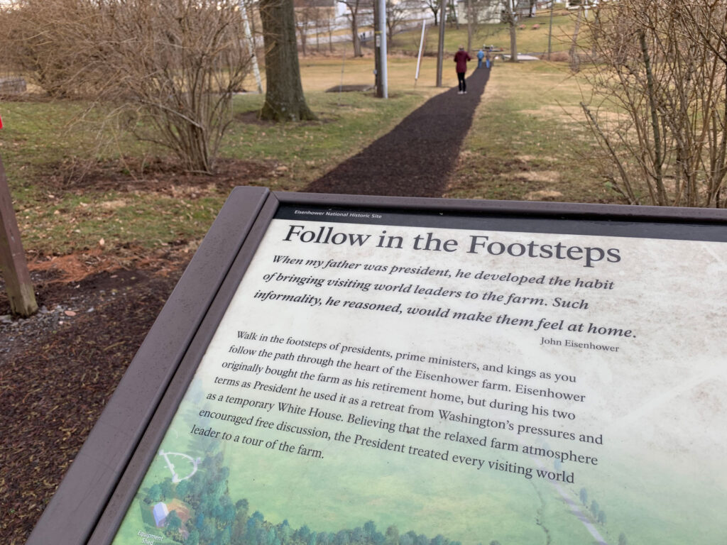
[[715, 209], [275, 193], [262, 187], [236, 187], [68, 469], [28, 545], [111, 543], [236, 286], [281, 205], [477, 214], [546, 223], [617, 222], [621, 230], [624, 225], [632, 229], [633, 236], [652, 236], [655, 226], [659, 235], [654, 238], [683, 238], [680, 233], [689, 225], [704, 229], [704, 240], [727, 241], [727, 211]]

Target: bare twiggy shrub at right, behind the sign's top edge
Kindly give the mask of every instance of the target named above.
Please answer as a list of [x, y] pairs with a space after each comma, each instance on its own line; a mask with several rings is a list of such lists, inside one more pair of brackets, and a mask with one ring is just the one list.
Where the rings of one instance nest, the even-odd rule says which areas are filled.
[[[622, 0], [598, 7], [600, 62], [583, 105], [630, 203], [727, 206], [727, 6], [712, 0]], [[608, 121], [604, 110], [625, 113]]]

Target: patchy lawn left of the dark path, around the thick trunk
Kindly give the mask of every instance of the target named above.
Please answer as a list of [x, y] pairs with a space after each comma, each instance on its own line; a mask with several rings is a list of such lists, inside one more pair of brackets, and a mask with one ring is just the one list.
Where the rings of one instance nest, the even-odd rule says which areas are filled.
[[[320, 121], [261, 124], [254, 111], [262, 105], [262, 96], [239, 95], [234, 102], [237, 121], [225, 138], [222, 160], [256, 165], [254, 175], [242, 183], [300, 190], [445, 90], [434, 86], [431, 59], [424, 63], [415, 87], [415, 64], [407, 57], [390, 62], [389, 100], [376, 99], [370, 92], [325, 92], [341, 81], [370, 84], [372, 68], [369, 57], [302, 60], [306, 99]], [[454, 80], [451, 77], [445, 84], [454, 85]], [[0, 104], [5, 125], [0, 154], [26, 251], [31, 256], [89, 251], [97, 249], [102, 239], [105, 251], [129, 244], [150, 249], [200, 239], [225, 201], [229, 185], [218, 189], [213, 178], [198, 177], [190, 186], [172, 177], [162, 190], [148, 190], [142, 178], [164, 173], [142, 176], [137, 169], [166, 151], [112, 132], [99, 147], [90, 134], [99, 128], [98, 120], [73, 124], [83, 108], [81, 102], [65, 101]], [[124, 190], [94, 183], [119, 176], [128, 179]]]

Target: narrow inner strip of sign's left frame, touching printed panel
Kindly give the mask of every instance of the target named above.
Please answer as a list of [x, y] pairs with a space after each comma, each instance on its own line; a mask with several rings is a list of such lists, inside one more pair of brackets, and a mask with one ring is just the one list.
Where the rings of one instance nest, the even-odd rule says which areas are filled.
[[209, 342], [212, 341], [212, 336], [217, 331], [217, 327], [220, 325], [220, 321], [236, 293], [236, 288], [250, 262], [252, 262], [255, 251], [260, 245], [262, 237], [265, 236], [277, 209], [278, 200], [274, 195], [268, 195], [268, 199], [257, 214], [255, 223], [249, 231], [243, 246], [239, 249], [235, 261], [230, 265], [228, 275], [222, 282], [217, 297], [206, 311], [201, 326], [199, 326], [192, 342], [189, 344], [177, 373], [174, 375], [172, 382], [169, 383], [169, 387], [166, 388], [164, 397], [161, 399], [161, 403], [158, 404], [156, 413], [154, 413], [131, 461], [124, 470], [124, 474], [121, 475], [116, 490], [113, 491], [113, 495], [106, 504], [87, 545], [107, 545], [116, 536], [126, 511], [129, 509], [129, 504], [133, 501], [151, 461], [156, 456], [158, 447], [164, 439], [174, 415], [177, 413], [177, 408], [187, 392], [199, 362], [204, 356]]

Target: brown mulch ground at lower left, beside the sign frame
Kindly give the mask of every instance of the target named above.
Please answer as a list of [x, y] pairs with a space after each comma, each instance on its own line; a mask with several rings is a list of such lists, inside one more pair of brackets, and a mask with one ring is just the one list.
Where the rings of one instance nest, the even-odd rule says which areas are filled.
[[41, 310], [27, 320], [9, 320], [0, 283], [0, 543], [25, 543], [182, 265], [73, 282], [33, 273]]

